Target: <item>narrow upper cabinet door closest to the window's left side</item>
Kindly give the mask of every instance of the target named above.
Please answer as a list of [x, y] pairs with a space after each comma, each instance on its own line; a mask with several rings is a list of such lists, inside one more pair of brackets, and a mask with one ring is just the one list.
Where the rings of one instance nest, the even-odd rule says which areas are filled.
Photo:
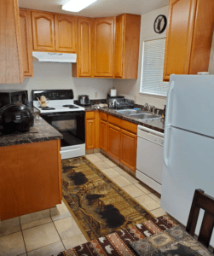
[[114, 54], [114, 76], [115, 78], [123, 77], [124, 61], [124, 15], [116, 18], [116, 38]]

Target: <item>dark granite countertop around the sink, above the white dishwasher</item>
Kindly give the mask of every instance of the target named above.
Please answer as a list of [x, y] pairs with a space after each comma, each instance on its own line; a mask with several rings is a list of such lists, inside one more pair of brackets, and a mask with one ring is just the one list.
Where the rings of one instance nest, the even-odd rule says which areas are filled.
[[[96, 110], [93, 107], [93, 105], [84, 107], [84, 108], [85, 108], [86, 112]], [[122, 113], [117, 113], [113, 108], [99, 108], [97, 111], [111, 114], [119, 119], [124, 119], [124, 120], [134, 123], [136, 125], [142, 125], [147, 128], [153, 129], [155, 131], [159, 131], [159, 132], [163, 132], [163, 133], [165, 132], [165, 123], [164, 123], [163, 119], [136, 119], [136, 118], [124, 115]]]

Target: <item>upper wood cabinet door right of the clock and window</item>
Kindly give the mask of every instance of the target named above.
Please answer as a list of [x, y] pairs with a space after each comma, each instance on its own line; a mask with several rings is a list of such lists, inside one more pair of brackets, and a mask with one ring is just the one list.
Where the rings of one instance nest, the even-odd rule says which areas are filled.
[[188, 74], [197, 0], [171, 0], [165, 45], [164, 79]]

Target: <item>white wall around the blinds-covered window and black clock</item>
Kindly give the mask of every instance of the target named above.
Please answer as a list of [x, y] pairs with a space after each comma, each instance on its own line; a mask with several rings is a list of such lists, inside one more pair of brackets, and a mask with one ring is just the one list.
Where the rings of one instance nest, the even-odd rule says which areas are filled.
[[[118, 90], [119, 95], [129, 97], [136, 101], [138, 104], [145, 104], [146, 102], [150, 105], [154, 105], [156, 108], [164, 108], [166, 103], [166, 98], [161, 98], [157, 96], [145, 96], [139, 93], [140, 91], [140, 79], [141, 79], [141, 68], [142, 68], [142, 42], [145, 40], [153, 40], [166, 37], [166, 30], [162, 34], [157, 34], [153, 31], [153, 21], [158, 15], [165, 15], [168, 17], [169, 6], [161, 9], [154, 10], [150, 13], [142, 15], [141, 24], [141, 44], [139, 53], [139, 66], [138, 66], [138, 79], [130, 80], [113, 80], [113, 86]], [[214, 38], [213, 38], [214, 39]], [[210, 63], [210, 73], [214, 73], [214, 40], [212, 42]]]

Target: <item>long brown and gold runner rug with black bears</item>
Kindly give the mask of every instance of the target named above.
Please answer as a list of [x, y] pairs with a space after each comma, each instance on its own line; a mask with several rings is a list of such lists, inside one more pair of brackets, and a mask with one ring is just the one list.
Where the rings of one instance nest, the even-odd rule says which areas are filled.
[[85, 157], [62, 161], [62, 194], [88, 241], [153, 218]]

